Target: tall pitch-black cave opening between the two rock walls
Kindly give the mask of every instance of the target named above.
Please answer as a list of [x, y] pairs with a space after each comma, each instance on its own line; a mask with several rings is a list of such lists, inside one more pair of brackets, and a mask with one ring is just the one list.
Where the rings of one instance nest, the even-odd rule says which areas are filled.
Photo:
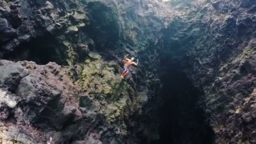
[[163, 63], [168, 67], [162, 71], [162, 104], [157, 112], [160, 140], [155, 144], [213, 144], [213, 130], [199, 104], [202, 94], [178, 64]]

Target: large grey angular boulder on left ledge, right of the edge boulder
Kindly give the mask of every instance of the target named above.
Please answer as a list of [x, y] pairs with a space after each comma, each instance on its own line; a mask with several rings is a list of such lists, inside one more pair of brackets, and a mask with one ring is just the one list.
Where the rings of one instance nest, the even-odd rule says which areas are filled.
[[26, 117], [30, 123], [35, 123], [36, 117], [48, 107], [48, 104], [58, 99], [61, 92], [51, 88], [42, 75], [30, 74], [21, 80], [16, 94], [23, 99], [24, 104], [35, 105], [35, 108], [27, 105], [27, 107], [23, 109], [23, 116]]

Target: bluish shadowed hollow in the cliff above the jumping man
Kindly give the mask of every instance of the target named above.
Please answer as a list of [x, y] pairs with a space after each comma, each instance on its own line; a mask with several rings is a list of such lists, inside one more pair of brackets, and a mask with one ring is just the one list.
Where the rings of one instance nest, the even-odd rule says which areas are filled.
[[120, 39], [120, 24], [115, 10], [101, 1], [89, 2], [87, 6], [91, 24], [84, 28], [93, 39], [96, 51], [113, 50]]

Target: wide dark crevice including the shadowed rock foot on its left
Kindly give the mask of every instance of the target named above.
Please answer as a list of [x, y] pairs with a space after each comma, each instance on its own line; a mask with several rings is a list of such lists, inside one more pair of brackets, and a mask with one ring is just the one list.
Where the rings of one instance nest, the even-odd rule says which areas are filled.
[[[149, 100], [143, 114], [130, 117], [128, 127], [141, 144], [214, 144], [205, 114], [203, 93], [190, 82], [179, 64], [161, 61], [162, 88]], [[129, 122], [127, 122], [129, 125]]]

